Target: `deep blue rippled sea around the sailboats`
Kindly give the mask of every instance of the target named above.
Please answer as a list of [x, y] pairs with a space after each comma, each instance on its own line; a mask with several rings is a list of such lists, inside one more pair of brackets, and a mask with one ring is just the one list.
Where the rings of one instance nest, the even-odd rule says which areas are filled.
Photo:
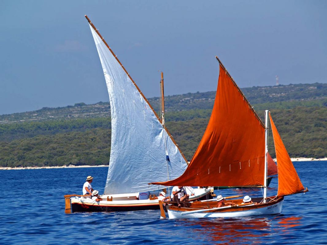
[[[63, 195], [80, 193], [88, 175], [103, 193], [106, 167], [0, 170], [0, 244], [327, 244], [327, 161], [294, 165], [309, 192], [285, 197], [281, 215], [192, 220], [160, 220], [159, 210], [65, 214]], [[276, 186], [273, 179], [269, 195]]]

